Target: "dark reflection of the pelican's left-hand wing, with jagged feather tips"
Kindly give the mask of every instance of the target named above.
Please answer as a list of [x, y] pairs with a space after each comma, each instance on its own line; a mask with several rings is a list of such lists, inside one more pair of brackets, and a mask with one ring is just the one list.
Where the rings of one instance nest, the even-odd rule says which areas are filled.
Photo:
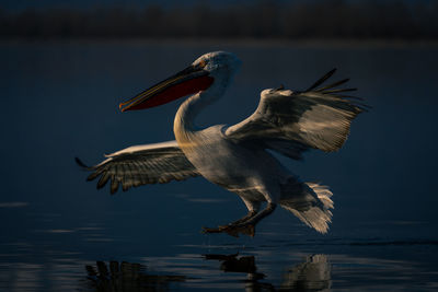
[[140, 264], [96, 261], [87, 266], [84, 288], [89, 291], [168, 291], [171, 282], [185, 281], [184, 276], [149, 275]]

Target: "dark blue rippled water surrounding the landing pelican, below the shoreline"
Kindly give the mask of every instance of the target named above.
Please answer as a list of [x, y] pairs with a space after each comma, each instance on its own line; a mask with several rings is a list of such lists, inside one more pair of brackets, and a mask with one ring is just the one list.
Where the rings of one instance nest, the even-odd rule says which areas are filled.
[[[334, 192], [327, 235], [284, 210], [254, 238], [200, 234], [245, 212], [193, 178], [110, 196], [73, 162], [173, 140], [172, 103], [118, 103], [226, 49], [243, 61], [204, 125], [237, 122], [258, 93], [304, 89], [333, 67], [373, 108], [342, 151], [284, 163]], [[436, 291], [437, 47], [149, 43], [0, 45], [1, 291]]]

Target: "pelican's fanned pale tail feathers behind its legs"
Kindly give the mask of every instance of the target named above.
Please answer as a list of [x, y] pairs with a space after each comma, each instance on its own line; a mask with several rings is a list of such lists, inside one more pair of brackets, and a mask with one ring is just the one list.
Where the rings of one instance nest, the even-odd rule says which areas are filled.
[[[309, 191], [313, 194], [303, 194], [303, 200], [284, 200], [280, 206], [292, 212], [308, 226], [313, 227], [318, 232], [326, 233], [328, 223], [332, 222], [333, 201], [331, 197], [333, 192], [327, 186], [322, 186], [315, 183], [306, 183]], [[312, 195], [311, 197], [309, 195]], [[316, 198], [315, 198], [316, 195]], [[306, 203], [307, 202], [307, 203]]]

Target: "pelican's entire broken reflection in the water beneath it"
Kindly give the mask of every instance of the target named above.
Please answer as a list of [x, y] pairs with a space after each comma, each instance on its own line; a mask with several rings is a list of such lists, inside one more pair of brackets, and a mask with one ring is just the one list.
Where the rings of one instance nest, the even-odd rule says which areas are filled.
[[[197, 257], [200, 260], [200, 257]], [[221, 277], [219, 287], [227, 290], [244, 289], [245, 291], [327, 291], [331, 288], [331, 266], [325, 255], [312, 255], [301, 264], [286, 269], [286, 272], [277, 277], [269, 277], [257, 271], [255, 256], [239, 256], [239, 254], [221, 255], [207, 254], [204, 259], [208, 261], [220, 261], [219, 270], [227, 273]], [[177, 266], [177, 261], [173, 262]], [[87, 278], [81, 280], [81, 291], [168, 291], [175, 289], [205, 289], [199, 283], [201, 279], [208, 278], [206, 267], [186, 270], [186, 276], [166, 275], [166, 271], [148, 271], [142, 264], [96, 261], [95, 265], [87, 265]], [[154, 267], [150, 267], [151, 270]], [[244, 278], [240, 275], [245, 275]], [[237, 275], [239, 278], [234, 278]], [[278, 283], [269, 281], [280, 279]]]

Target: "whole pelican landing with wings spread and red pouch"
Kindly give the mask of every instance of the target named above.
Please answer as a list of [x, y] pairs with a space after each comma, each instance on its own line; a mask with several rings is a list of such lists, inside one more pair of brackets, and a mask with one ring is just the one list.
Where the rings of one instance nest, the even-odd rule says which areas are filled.
[[338, 87], [348, 79], [323, 85], [335, 72], [333, 69], [306, 91], [283, 85], [262, 91], [254, 114], [237, 125], [198, 128], [196, 117], [223, 96], [240, 65], [231, 52], [208, 52], [122, 103], [122, 112], [128, 112], [188, 95], [175, 115], [174, 141], [129, 147], [106, 155], [94, 166], [77, 159], [92, 172], [88, 180], [100, 177], [97, 188], [111, 182], [110, 190], [114, 194], [119, 185], [126, 191], [140, 185], [203, 176], [235, 192], [247, 208], [243, 218], [215, 229], [204, 227], [205, 233], [254, 236], [255, 225], [277, 206], [326, 233], [332, 220], [332, 191], [316, 183], [301, 182], [269, 151], [292, 160], [301, 160], [309, 149], [336, 151], [347, 139], [351, 120], [366, 105], [343, 94], [355, 90]]

